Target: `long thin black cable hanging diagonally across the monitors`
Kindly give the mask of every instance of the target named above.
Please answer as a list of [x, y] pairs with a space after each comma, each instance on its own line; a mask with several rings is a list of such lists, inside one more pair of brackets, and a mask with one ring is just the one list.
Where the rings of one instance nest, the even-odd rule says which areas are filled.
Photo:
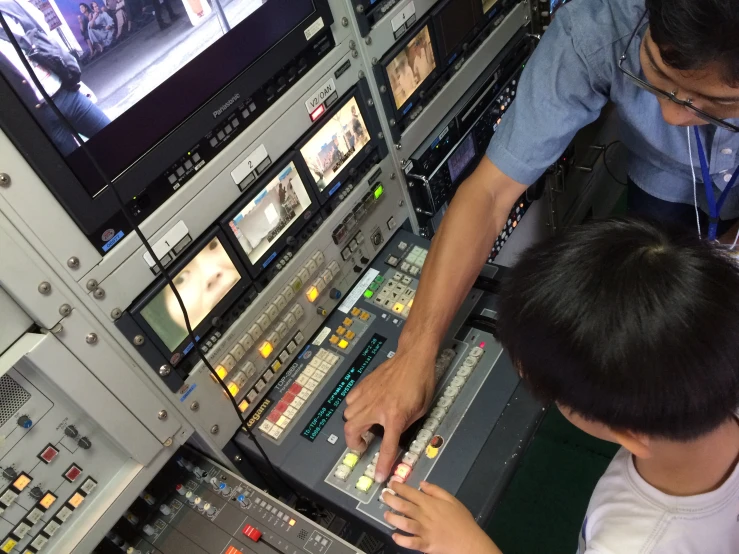
[[[157, 268], [159, 269], [159, 272], [161, 275], [164, 276], [165, 280], [167, 281], [167, 285], [170, 289], [172, 289], [172, 292], [174, 293], [175, 298], [177, 299], [177, 304], [180, 306], [180, 310], [182, 311], [182, 315], [185, 320], [185, 328], [187, 329], [187, 334], [190, 337], [190, 340], [193, 342], [194, 345], [197, 344], [197, 340], [195, 337], [195, 333], [192, 330], [192, 326], [190, 325], [190, 317], [187, 314], [187, 308], [185, 307], [185, 303], [182, 301], [182, 297], [180, 296], [180, 293], [177, 291], [177, 287], [174, 284], [174, 281], [172, 280], [172, 277], [165, 269], [164, 265], [162, 264], [159, 257], [154, 253], [154, 249], [152, 248], [151, 244], [149, 244], [149, 241], [146, 239], [144, 234], [141, 232], [141, 229], [139, 228], [136, 221], [134, 221], [133, 217], [129, 213], [128, 209], [126, 208], [125, 202], [123, 201], [123, 198], [121, 197], [120, 193], [116, 189], [116, 187], [113, 185], [113, 183], [108, 179], [108, 176], [105, 174], [103, 169], [98, 164], [97, 160], [95, 159], [95, 156], [92, 155], [90, 150], [87, 148], [87, 144], [82, 139], [82, 137], [79, 135], [77, 130], [74, 128], [72, 123], [66, 118], [66, 116], [61, 112], [59, 107], [56, 105], [54, 100], [51, 98], [48, 92], [46, 92], [46, 89], [44, 89], [43, 85], [39, 81], [38, 76], [36, 75], [35, 70], [29, 63], [28, 59], [26, 58], [25, 53], [23, 52], [23, 49], [20, 47], [20, 44], [18, 44], [17, 39], [15, 38], [15, 35], [13, 34], [12, 30], [10, 29], [10, 26], [8, 25], [8, 22], [5, 20], [5, 16], [0, 13], [0, 26], [2, 27], [3, 31], [8, 37], [8, 40], [10, 41], [10, 44], [13, 46], [13, 49], [15, 50], [16, 54], [21, 60], [21, 63], [23, 64], [23, 67], [25, 67], [26, 71], [28, 72], [28, 75], [31, 78], [31, 81], [33, 81], [33, 84], [35, 85], [36, 89], [41, 93], [41, 96], [43, 97], [44, 101], [48, 104], [48, 106], [51, 108], [51, 110], [54, 112], [54, 115], [61, 121], [64, 126], [67, 128], [67, 130], [72, 134], [74, 139], [79, 144], [80, 149], [85, 153], [85, 156], [88, 158], [90, 163], [92, 164], [95, 171], [98, 173], [98, 175], [102, 178], [103, 182], [105, 183], [106, 187], [111, 189], [113, 191], [113, 195], [116, 198], [116, 202], [120, 206], [121, 212], [123, 213], [123, 216], [126, 219], [126, 222], [129, 226], [133, 228], [134, 233], [139, 237], [141, 242], [144, 245], [144, 248], [149, 253], [151, 258], [154, 260], [154, 263], [156, 264]], [[239, 421], [241, 422], [241, 428], [246, 430], [247, 434], [249, 435], [249, 438], [254, 441], [254, 445], [257, 447], [257, 450], [259, 450], [259, 453], [264, 458], [265, 462], [269, 466], [270, 470], [274, 472], [274, 474], [278, 477], [278, 479], [287, 487], [289, 491], [291, 491], [295, 496], [300, 496], [297, 491], [291, 487], [287, 481], [285, 481], [282, 478], [282, 475], [277, 471], [277, 469], [272, 465], [271, 460], [269, 459], [269, 456], [267, 456], [267, 453], [264, 451], [262, 446], [257, 441], [256, 436], [252, 432], [251, 429], [249, 429], [248, 425], [246, 424], [246, 418], [241, 413], [241, 410], [239, 410], [239, 406], [236, 403], [236, 399], [231, 394], [231, 391], [228, 390], [228, 387], [226, 386], [226, 383], [223, 382], [223, 379], [216, 373], [216, 370], [213, 368], [211, 363], [208, 361], [208, 359], [205, 357], [205, 354], [200, 350], [200, 348], [194, 349], [198, 356], [200, 357], [203, 364], [205, 364], [205, 367], [208, 368], [208, 371], [210, 371], [213, 378], [218, 382], [218, 384], [221, 386], [221, 388], [225, 391], [226, 396], [231, 401], [231, 404], [233, 405], [234, 410], [236, 411], [236, 415], [239, 418]]]

